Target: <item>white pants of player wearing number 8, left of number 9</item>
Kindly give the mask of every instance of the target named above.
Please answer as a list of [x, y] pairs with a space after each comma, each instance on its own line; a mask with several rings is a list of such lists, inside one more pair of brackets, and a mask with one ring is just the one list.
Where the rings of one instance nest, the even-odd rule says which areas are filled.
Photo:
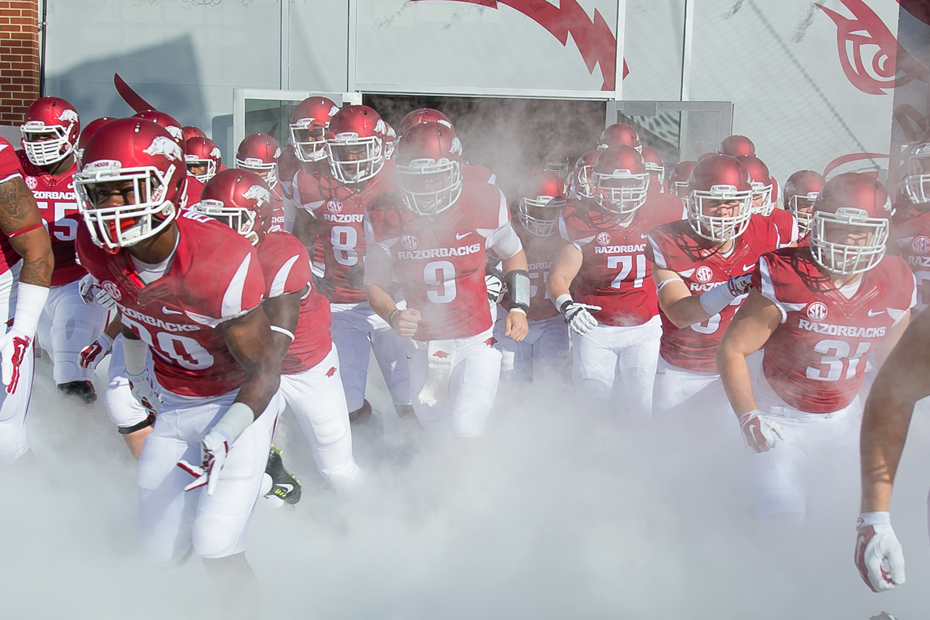
[[362, 407], [368, 382], [369, 350], [381, 368], [384, 382], [395, 405], [410, 404], [410, 374], [406, 344], [390, 325], [375, 314], [367, 302], [331, 304], [333, 344], [339, 355], [339, 370], [349, 411]]

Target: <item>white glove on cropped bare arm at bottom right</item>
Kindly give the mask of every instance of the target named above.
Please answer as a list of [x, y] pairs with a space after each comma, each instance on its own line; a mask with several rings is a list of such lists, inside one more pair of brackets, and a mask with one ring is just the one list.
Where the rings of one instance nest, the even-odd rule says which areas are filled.
[[856, 567], [873, 592], [904, 583], [904, 552], [887, 512], [864, 512], [856, 524]]

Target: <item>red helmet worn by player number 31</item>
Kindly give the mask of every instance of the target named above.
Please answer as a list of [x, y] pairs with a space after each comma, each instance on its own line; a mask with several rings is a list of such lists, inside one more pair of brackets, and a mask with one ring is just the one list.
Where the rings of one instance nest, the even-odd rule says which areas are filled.
[[877, 179], [859, 172], [833, 177], [814, 202], [811, 255], [832, 273], [868, 271], [885, 255], [891, 212], [888, 192]]

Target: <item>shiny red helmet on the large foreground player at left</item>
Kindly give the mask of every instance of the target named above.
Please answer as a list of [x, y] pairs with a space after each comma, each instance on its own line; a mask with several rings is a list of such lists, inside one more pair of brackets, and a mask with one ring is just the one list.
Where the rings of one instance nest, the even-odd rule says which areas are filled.
[[[99, 185], [126, 181], [132, 182], [134, 201], [111, 205], [112, 186]], [[94, 243], [113, 252], [135, 245], [160, 234], [187, 205], [184, 151], [151, 121], [110, 121], [84, 148], [74, 191]]]

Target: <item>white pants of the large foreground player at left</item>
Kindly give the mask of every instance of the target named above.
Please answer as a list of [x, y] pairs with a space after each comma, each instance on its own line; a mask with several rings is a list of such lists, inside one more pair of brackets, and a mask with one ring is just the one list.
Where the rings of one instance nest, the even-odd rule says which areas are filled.
[[200, 442], [238, 390], [210, 398], [161, 391], [162, 408], [145, 440], [136, 483], [140, 535], [146, 553], [160, 565], [180, 561], [191, 546], [204, 558], [245, 550], [249, 520], [261, 492], [280, 394], [233, 442], [214, 494], [206, 487], [184, 491], [193, 481], [177, 463], [201, 462]]

